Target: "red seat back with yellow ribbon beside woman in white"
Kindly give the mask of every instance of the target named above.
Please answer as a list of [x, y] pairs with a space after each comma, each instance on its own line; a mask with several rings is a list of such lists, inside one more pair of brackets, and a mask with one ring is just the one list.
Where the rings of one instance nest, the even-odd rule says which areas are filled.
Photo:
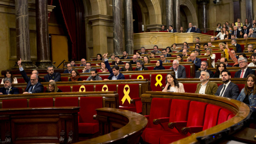
[[[161, 75], [162, 80], [161, 80], [161, 77], [160, 76], [157, 77], [157, 75]], [[151, 81], [150, 81], [151, 91], [162, 91], [162, 87], [165, 86], [166, 75], [167, 74], [152, 74], [151, 75]]]

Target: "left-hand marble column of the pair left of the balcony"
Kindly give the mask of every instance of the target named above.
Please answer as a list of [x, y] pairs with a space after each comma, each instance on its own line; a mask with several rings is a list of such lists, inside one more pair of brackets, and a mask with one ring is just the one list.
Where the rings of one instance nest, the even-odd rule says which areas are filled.
[[122, 33], [122, 7], [120, 0], [113, 0], [113, 43], [114, 53], [122, 54], [123, 33]]

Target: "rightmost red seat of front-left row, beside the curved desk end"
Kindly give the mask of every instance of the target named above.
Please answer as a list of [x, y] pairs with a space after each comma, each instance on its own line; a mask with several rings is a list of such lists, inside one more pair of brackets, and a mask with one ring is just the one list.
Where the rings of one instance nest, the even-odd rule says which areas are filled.
[[99, 131], [99, 123], [93, 119], [97, 108], [102, 108], [102, 97], [81, 97], [78, 133], [94, 134]]

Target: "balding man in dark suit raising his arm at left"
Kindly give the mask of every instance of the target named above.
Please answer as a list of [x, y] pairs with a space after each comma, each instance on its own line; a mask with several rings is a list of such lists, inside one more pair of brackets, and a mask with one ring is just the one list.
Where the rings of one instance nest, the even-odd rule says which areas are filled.
[[32, 74], [29, 78], [25, 70], [21, 66], [21, 59], [18, 61], [18, 66], [23, 79], [27, 83], [26, 90], [25, 92], [23, 92], [23, 94], [44, 92], [44, 86], [40, 82], [38, 82], [38, 75]]

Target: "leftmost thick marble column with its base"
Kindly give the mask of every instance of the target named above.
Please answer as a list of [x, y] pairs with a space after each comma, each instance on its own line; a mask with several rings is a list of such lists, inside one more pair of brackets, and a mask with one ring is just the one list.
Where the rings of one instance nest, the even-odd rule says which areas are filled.
[[22, 60], [23, 68], [36, 68], [30, 60], [28, 0], [15, 0], [15, 17], [17, 60]]

